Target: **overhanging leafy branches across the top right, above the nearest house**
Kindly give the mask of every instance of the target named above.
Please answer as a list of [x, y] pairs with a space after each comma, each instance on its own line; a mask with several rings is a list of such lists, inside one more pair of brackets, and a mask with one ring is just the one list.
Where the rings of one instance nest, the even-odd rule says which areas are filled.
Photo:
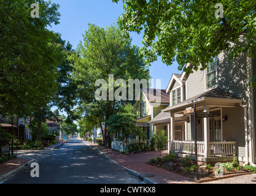
[[[223, 6], [223, 17], [217, 3]], [[142, 55], [147, 62], [161, 56], [165, 64], [177, 61], [179, 70], [192, 72], [185, 67], [188, 62], [195, 70], [200, 64], [205, 69], [223, 50], [229, 58], [255, 54], [255, 1], [123, 0], [123, 8], [118, 25], [125, 32], [144, 33]]]

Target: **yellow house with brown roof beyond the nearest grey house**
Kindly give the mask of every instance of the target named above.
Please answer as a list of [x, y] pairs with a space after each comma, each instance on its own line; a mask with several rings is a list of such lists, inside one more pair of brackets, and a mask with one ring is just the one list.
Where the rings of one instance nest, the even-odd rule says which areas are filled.
[[[141, 88], [139, 100], [136, 101], [134, 107], [139, 116], [136, 125], [144, 132], [142, 140], [150, 141], [152, 139], [153, 127], [149, 124], [149, 121], [168, 106], [169, 92], [166, 93], [165, 89]], [[161, 129], [167, 130], [167, 127], [163, 126]]]

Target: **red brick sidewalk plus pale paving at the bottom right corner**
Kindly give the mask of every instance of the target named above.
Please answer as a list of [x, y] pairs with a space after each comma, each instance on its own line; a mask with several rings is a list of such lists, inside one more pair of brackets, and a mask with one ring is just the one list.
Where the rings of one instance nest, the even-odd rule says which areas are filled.
[[[103, 146], [95, 145], [88, 141], [85, 141], [85, 143], [106, 154], [106, 156], [117, 162], [117, 164], [122, 165], [123, 167], [137, 171], [138, 173], [141, 173], [141, 175], [154, 174], [155, 176], [150, 177], [149, 179], [152, 179], [152, 181], [155, 181], [157, 184], [196, 184], [193, 179], [186, 178], [182, 175], [177, 175], [176, 173], [167, 172], [163, 168], [153, 167], [151, 165], [145, 164], [145, 162], [149, 162], [152, 157], [158, 157], [160, 155], [159, 151], [147, 151], [144, 153], [135, 154], [120, 154], [117, 151], [104, 148]], [[163, 150], [161, 154], [164, 155], [167, 153], [167, 150]], [[256, 173], [219, 179], [209, 183], [201, 184], [256, 184]]]

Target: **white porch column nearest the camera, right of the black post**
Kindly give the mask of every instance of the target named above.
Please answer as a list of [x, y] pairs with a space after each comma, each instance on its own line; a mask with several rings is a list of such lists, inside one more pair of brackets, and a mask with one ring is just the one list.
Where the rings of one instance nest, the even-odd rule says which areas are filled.
[[[204, 105], [204, 112], [209, 113], [209, 105]], [[210, 157], [210, 119], [204, 118], [204, 157]]]

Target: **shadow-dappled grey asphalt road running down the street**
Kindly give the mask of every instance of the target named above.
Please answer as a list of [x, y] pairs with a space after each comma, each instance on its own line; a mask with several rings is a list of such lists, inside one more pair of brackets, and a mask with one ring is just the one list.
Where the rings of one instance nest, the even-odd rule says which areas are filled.
[[39, 165], [39, 177], [32, 177], [33, 167], [26, 167], [3, 181], [3, 184], [140, 184], [98, 151], [73, 138], [56, 149], [21, 151]]

